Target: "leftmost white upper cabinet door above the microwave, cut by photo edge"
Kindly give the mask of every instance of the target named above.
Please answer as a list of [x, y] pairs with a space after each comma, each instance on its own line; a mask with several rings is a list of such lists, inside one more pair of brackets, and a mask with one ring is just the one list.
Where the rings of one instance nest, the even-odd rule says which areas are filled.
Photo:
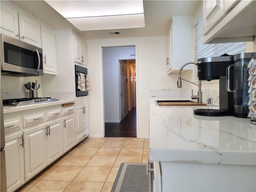
[[18, 11], [10, 8], [1, 2], [1, 33], [11, 36], [16, 39], [19, 38], [19, 16]]

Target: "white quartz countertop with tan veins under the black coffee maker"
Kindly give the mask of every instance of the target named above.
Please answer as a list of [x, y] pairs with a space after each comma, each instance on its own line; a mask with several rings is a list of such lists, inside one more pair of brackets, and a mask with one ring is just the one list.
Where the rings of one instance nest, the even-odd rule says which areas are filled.
[[256, 125], [234, 116], [207, 117], [196, 108], [159, 107], [155, 100], [188, 100], [181, 96], [151, 97], [149, 159], [151, 161], [256, 164]]

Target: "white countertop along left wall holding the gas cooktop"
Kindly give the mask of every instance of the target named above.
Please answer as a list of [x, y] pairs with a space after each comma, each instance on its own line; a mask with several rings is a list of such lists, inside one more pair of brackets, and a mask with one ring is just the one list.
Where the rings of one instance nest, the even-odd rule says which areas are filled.
[[17, 111], [24, 111], [28, 109], [36, 109], [36, 108], [42, 108], [42, 107], [48, 107], [48, 106], [53, 106], [53, 105], [61, 105], [65, 103], [71, 103], [75, 102], [76, 100], [59, 100], [59, 101], [52, 101], [52, 102], [46, 102], [46, 103], [36, 103], [32, 105], [24, 105], [24, 106], [19, 106], [19, 107], [3, 107], [4, 108], [4, 114], [5, 113], [13, 113]]

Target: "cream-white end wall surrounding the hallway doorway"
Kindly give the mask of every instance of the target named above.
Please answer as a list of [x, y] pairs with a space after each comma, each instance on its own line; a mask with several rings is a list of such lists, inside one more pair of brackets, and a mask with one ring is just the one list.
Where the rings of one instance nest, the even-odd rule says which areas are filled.
[[[177, 88], [178, 74], [166, 75], [167, 37], [136, 37], [118, 39], [95, 39], [87, 40], [88, 70], [90, 71], [90, 94], [89, 100], [89, 122], [90, 136], [101, 134], [100, 119], [100, 73], [99, 73], [99, 45], [118, 43], [138, 44], [138, 115], [139, 115], [139, 137], [148, 137], [148, 115], [150, 89]], [[186, 78], [186, 76], [183, 76]], [[147, 87], [142, 88], [142, 82]], [[182, 82], [183, 83], [183, 82]], [[183, 88], [190, 88], [186, 82]]]

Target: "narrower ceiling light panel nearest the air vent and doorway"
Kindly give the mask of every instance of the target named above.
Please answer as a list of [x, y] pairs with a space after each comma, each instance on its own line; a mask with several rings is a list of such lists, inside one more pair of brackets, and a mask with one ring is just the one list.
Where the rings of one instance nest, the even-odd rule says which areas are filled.
[[80, 31], [145, 27], [144, 14], [68, 18]]

